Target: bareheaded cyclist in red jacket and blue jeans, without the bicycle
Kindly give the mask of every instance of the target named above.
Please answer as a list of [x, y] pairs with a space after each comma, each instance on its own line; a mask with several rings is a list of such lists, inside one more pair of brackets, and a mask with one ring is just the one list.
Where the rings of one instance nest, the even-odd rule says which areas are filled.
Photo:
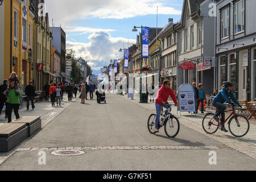
[[168, 109], [168, 98], [171, 96], [174, 103], [177, 105], [177, 100], [174, 92], [171, 89], [171, 82], [169, 80], [164, 80], [162, 87], [158, 90], [158, 95], [155, 100], [155, 108], [156, 108], [156, 117], [155, 117], [155, 132], [159, 132], [158, 123], [162, 106]]

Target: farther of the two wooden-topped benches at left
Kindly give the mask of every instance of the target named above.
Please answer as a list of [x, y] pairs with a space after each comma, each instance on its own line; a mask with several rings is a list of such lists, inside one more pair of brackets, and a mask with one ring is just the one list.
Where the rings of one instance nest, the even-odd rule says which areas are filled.
[[28, 137], [38, 133], [42, 129], [42, 120], [37, 116], [23, 116], [11, 123], [23, 123], [28, 127]]

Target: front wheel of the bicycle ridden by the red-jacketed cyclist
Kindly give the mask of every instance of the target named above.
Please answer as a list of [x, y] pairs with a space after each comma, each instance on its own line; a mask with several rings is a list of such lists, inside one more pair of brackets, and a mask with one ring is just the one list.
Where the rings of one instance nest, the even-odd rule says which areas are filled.
[[179, 119], [177, 119], [174, 115], [170, 118], [170, 121], [168, 118], [164, 121], [164, 132], [166, 135], [170, 138], [176, 137], [176, 135], [179, 133], [180, 130], [180, 122]]

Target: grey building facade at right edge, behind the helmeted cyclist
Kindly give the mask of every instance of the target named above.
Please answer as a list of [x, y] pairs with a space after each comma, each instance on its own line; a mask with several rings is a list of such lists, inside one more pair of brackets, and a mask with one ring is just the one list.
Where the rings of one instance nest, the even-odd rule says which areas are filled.
[[256, 3], [216, 1], [216, 86], [228, 80], [238, 100], [256, 97]]

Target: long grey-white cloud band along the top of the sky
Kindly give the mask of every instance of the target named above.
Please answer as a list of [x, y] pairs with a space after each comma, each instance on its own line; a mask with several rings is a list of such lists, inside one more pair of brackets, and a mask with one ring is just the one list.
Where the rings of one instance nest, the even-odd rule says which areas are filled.
[[156, 6], [158, 13], [164, 15], [180, 15], [172, 5], [166, 5], [159, 0], [46, 0], [47, 11], [55, 25], [68, 26], [80, 19], [97, 18], [132, 18], [135, 16], [155, 14]]

